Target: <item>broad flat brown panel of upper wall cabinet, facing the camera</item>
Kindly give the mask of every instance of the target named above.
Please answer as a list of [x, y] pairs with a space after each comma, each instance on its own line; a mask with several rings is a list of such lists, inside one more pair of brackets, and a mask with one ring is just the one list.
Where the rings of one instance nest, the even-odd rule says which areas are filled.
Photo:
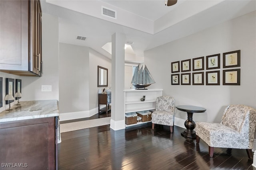
[[0, 0], [0, 69], [28, 71], [28, 1]]

